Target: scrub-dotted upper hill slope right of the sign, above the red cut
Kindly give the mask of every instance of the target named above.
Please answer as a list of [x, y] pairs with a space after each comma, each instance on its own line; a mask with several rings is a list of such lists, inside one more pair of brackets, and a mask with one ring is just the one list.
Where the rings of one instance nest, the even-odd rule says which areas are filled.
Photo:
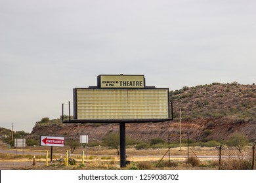
[[234, 116], [237, 119], [256, 118], [256, 86], [241, 85], [238, 82], [221, 84], [213, 82], [195, 87], [184, 86], [181, 90], [169, 92], [175, 103], [174, 116], [182, 119]]

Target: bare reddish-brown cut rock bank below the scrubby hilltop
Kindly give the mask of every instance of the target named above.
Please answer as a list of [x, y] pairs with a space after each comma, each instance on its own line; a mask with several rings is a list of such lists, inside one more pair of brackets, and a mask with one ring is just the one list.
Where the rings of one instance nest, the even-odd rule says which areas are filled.
[[[232, 133], [243, 133], [249, 139], [256, 140], [256, 120], [235, 120], [230, 117], [221, 118], [198, 118], [193, 120], [182, 120], [182, 134], [186, 139], [195, 141], [222, 141], [228, 139]], [[36, 125], [32, 135], [60, 136], [78, 138], [80, 135], [89, 135], [90, 141], [100, 141], [112, 131], [119, 132], [119, 124], [53, 124]], [[145, 124], [126, 124], [126, 135], [137, 141], [148, 141], [150, 139], [168, 139], [168, 134], [176, 141], [179, 137], [179, 122], [161, 122]], [[176, 136], [177, 135], [177, 136]]]

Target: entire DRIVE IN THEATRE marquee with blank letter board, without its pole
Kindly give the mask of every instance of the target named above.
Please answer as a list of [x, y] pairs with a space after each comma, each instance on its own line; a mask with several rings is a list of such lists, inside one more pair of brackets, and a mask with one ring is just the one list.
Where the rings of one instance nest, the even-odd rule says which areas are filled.
[[99, 75], [98, 86], [74, 88], [74, 122], [163, 122], [169, 89], [146, 87], [144, 75]]

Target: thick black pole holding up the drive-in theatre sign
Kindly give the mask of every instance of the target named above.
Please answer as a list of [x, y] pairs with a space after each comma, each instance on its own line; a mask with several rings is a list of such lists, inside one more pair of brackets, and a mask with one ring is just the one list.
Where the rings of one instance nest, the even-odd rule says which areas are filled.
[[125, 148], [125, 123], [119, 123], [120, 133], [120, 167], [126, 167], [126, 148]]

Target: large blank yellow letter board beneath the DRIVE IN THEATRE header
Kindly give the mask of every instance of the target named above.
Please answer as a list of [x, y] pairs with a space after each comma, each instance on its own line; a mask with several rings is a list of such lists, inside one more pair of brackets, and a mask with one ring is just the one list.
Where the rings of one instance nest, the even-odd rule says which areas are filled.
[[168, 119], [169, 90], [76, 90], [77, 120]]

